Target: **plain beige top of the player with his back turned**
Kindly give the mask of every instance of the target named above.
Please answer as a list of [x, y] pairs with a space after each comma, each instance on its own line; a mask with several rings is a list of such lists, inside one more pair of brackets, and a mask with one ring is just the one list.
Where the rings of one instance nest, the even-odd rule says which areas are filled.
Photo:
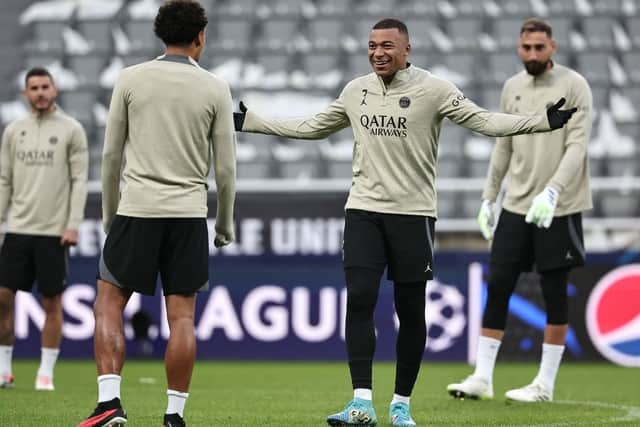
[[232, 108], [229, 85], [191, 58], [165, 55], [123, 70], [105, 132], [105, 231], [116, 213], [140, 218], [206, 217], [213, 158], [216, 231], [232, 241], [236, 187]]

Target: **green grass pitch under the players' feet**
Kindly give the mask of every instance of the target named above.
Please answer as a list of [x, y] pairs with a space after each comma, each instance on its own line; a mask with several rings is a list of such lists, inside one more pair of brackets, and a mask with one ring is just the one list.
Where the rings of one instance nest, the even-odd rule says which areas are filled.
[[[97, 388], [90, 361], [62, 360], [56, 391], [36, 392], [36, 361], [14, 361], [16, 386], [0, 389], [0, 426], [75, 426], [93, 410]], [[505, 402], [504, 392], [526, 384], [537, 364], [499, 363], [493, 401], [456, 401], [445, 387], [469, 374], [464, 364], [422, 366], [411, 399], [419, 426], [640, 426], [640, 369], [564, 364], [553, 403]], [[374, 365], [378, 425], [388, 426], [394, 368]], [[125, 365], [122, 398], [127, 426], [162, 425], [166, 383], [160, 361]], [[344, 363], [198, 361], [185, 410], [194, 426], [323, 426], [351, 398]]]

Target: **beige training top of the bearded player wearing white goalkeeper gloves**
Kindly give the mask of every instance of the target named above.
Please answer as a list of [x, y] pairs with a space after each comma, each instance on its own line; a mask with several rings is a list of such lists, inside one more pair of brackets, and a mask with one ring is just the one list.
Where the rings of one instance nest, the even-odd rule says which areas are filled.
[[534, 77], [522, 71], [506, 81], [501, 108], [507, 113], [543, 113], [559, 98], [578, 111], [562, 129], [540, 135], [498, 138], [493, 148], [483, 198], [494, 201], [505, 175], [505, 209], [526, 215], [546, 186], [558, 190], [556, 216], [592, 208], [587, 144], [591, 134], [591, 89], [575, 71], [555, 64]]

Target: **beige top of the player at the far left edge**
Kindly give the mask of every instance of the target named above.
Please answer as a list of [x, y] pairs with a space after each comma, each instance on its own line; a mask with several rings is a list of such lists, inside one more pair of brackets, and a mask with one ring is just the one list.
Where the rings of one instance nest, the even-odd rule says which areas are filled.
[[0, 148], [0, 215], [10, 233], [61, 236], [77, 230], [87, 200], [87, 136], [59, 108], [18, 119]]

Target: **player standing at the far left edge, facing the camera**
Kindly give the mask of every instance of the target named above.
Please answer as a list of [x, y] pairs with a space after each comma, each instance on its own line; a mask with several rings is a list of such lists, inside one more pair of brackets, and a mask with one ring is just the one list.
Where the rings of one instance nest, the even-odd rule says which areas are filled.
[[17, 291], [42, 297], [41, 362], [36, 390], [53, 391], [62, 341], [62, 293], [68, 247], [78, 242], [87, 200], [89, 155], [82, 125], [56, 105], [58, 89], [45, 68], [25, 77], [31, 114], [10, 123], [0, 147], [0, 222], [7, 235], [0, 252], [0, 388], [14, 385], [14, 306]]

